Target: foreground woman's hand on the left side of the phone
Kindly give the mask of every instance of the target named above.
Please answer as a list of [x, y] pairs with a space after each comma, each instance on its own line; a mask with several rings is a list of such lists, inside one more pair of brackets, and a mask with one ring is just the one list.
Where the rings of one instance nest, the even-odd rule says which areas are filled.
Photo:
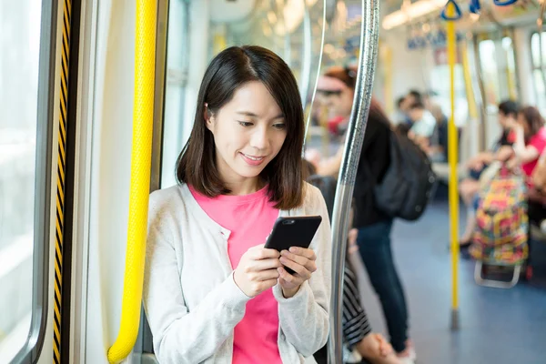
[[249, 248], [241, 257], [235, 269], [235, 284], [250, 298], [272, 288], [278, 281], [278, 268], [281, 267], [280, 253], [275, 249], [264, 248], [264, 244]]

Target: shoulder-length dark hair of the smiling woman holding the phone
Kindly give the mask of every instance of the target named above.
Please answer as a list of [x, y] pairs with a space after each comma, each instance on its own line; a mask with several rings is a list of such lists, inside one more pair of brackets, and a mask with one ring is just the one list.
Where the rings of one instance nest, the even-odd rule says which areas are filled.
[[305, 134], [298, 83], [279, 56], [257, 45], [229, 47], [208, 65], [197, 96], [194, 126], [177, 159], [177, 181], [207, 197], [231, 192], [218, 173], [214, 136], [207, 129], [204, 115], [206, 111], [215, 115], [238, 87], [250, 81], [259, 81], [268, 88], [285, 117], [287, 130], [277, 157], [264, 168], [261, 177], [268, 182], [269, 197], [276, 208], [298, 207], [303, 203], [301, 150]]

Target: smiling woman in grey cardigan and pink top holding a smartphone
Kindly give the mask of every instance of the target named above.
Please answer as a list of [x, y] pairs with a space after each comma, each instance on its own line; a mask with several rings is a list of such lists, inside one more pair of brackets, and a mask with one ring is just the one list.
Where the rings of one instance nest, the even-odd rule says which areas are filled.
[[[144, 305], [160, 363], [302, 363], [326, 343], [329, 217], [303, 180], [303, 136], [277, 55], [243, 46], [212, 60], [179, 184], [150, 196]], [[310, 248], [264, 248], [278, 216], [298, 215], [322, 217]]]

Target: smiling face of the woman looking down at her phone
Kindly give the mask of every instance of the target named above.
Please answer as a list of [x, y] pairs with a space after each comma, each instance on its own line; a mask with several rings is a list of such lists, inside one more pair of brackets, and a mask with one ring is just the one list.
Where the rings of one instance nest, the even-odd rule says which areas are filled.
[[220, 177], [228, 186], [256, 183], [287, 137], [284, 116], [266, 86], [248, 82], [216, 114], [205, 114]]

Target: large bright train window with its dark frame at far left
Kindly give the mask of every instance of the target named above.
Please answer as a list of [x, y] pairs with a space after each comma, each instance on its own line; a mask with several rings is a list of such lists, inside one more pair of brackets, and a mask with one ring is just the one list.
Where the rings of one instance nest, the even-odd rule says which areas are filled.
[[[51, 179], [53, 5], [3, 2], [0, 12], [0, 362], [43, 342]], [[38, 113], [38, 110], [40, 112]], [[28, 360], [29, 361], [29, 360]]]

